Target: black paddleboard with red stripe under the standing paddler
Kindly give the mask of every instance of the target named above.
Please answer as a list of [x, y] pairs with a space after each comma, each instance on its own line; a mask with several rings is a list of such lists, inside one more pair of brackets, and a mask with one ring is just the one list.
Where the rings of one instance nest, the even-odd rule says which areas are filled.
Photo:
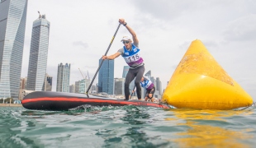
[[64, 92], [36, 91], [24, 97], [21, 104], [26, 109], [36, 110], [69, 110], [78, 106], [89, 104], [92, 106], [148, 106], [170, 109], [167, 104], [156, 104], [140, 100], [123, 100], [103, 96], [84, 95]]

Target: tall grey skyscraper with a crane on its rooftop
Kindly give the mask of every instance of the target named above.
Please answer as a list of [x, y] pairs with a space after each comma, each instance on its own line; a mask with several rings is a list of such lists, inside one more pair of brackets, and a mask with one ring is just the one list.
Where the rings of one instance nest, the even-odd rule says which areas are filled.
[[26, 90], [45, 90], [45, 72], [48, 57], [50, 22], [45, 15], [33, 22], [31, 53], [27, 72]]

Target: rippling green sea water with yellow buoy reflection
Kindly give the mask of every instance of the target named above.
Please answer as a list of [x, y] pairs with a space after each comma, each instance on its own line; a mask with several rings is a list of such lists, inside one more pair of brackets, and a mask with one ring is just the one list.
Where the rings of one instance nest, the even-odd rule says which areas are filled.
[[0, 147], [255, 147], [256, 109], [0, 107]]

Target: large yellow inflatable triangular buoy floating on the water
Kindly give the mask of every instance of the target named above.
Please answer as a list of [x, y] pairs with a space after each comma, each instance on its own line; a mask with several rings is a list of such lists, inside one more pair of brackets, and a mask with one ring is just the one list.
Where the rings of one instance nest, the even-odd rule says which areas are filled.
[[176, 108], [236, 109], [252, 97], [211, 56], [199, 39], [192, 41], [162, 98]]

